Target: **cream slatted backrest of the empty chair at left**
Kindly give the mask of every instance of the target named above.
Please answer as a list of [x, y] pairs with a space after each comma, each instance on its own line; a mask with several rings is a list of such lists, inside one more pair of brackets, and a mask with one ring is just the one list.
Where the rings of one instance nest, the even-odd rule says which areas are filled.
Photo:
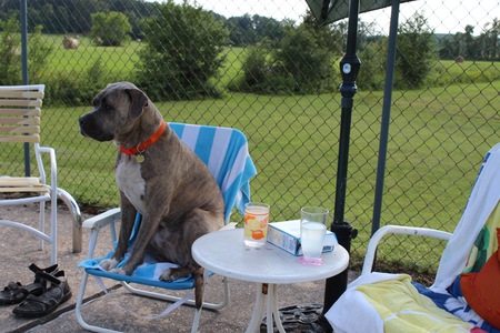
[[0, 142], [40, 142], [43, 84], [0, 85]]

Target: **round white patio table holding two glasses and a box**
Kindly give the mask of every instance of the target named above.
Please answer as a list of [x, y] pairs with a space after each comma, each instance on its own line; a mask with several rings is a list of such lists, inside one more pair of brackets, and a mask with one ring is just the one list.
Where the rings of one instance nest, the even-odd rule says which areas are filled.
[[343, 272], [349, 263], [349, 253], [341, 245], [321, 255], [321, 266], [303, 265], [299, 256], [270, 243], [261, 249], [246, 248], [243, 229], [221, 230], [199, 238], [192, 244], [192, 256], [213, 273], [257, 283], [257, 300], [247, 333], [259, 332], [264, 310], [268, 332], [273, 331], [274, 319], [278, 330], [284, 333], [278, 312], [278, 284], [331, 278]]

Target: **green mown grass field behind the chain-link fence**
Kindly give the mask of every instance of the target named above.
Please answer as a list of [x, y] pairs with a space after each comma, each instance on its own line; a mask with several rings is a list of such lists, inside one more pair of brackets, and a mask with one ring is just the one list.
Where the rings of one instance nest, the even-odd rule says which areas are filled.
[[[62, 37], [48, 38], [54, 44], [62, 40]], [[129, 80], [140, 43], [100, 48], [84, 38], [80, 42], [78, 50], [57, 47], [48, 74], [84, 71], [101, 58], [117, 80]], [[244, 50], [232, 48], [224, 52], [227, 65], [221, 73], [221, 87], [238, 75]], [[393, 93], [382, 224], [452, 231], [482, 154], [500, 141], [500, 64], [442, 61], [440, 68], [446, 70], [434, 73], [437, 82], [462, 83]], [[370, 236], [382, 97], [380, 91], [359, 91], [354, 98], [346, 200], [346, 221], [360, 231], [352, 244], [354, 258], [363, 254]], [[304, 204], [326, 205], [333, 211], [340, 98], [339, 93], [269, 97], [228, 92], [220, 100], [156, 104], [167, 121], [241, 129], [249, 138], [259, 171], [252, 181], [253, 199], [271, 203], [272, 219], [280, 221], [296, 219]], [[47, 105], [42, 142], [57, 149], [59, 185], [72, 193], [82, 206], [114, 206], [118, 205], [113, 173], [116, 148], [79, 133], [78, 118], [90, 109], [90, 105]], [[0, 174], [23, 170], [18, 150], [3, 150], [0, 158]], [[240, 216], [236, 214], [234, 219], [238, 221]], [[390, 249], [399, 242], [388, 242], [384, 258], [401, 260], [403, 256], [402, 261], [409, 263], [419, 261], [411, 253], [393, 253]], [[439, 246], [423, 243], [420, 253], [430, 264], [436, 263]]]

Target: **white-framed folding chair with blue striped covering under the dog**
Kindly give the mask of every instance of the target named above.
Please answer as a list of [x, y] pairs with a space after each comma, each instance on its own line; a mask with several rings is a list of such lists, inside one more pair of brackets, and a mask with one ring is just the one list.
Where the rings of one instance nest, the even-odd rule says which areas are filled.
[[[194, 124], [170, 123], [170, 128], [188, 147], [190, 147], [194, 151], [194, 153], [198, 154], [198, 157], [208, 165], [209, 170], [213, 174], [224, 199], [224, 223], [229, 223], [231, 211], [234, 206], [243, 213], [244, 203], [250, 201], [249, 181], [257, 173], [253, 162], [251, 161], [248, 153], [248, 144], [244, 134], [234, 129]], [[86, 330], [94, 332], [116, 332], [87, 324], [82, 317], [81, 307], [89, 274], [120, 281], [126, 286], [126, 289], [132, 293], [172, 302], [182, 302], [186, 297], [180, 300], [181, 297], [178, 296], [136, 289], [132, 287], [129, 283], [170, 290], [192, 290], [194, 287], [193, 279], [191, 278], [188, 280], [184, 279], [186, 281], [178, 280], [170, 283], [159, 281], [158, 276], [153, 276], [153, 274], [151, 273], [154, 271], [154, 266], [152, 264], [139, 266], [130, 276], [118, 275], [100, 270], [98, 265], [102, 259], [92, 259], [99, 230], [104, 226], [111, 226], [112, 241], [114, 242], [117, 239], [114, 232], [114, 221], [117, 221], [119, 218], [120, 210], [114, 209], [94, 218], [88, 219], [83, 223], [83, 228], [90, 229], [91, 235], [88, 255], [89, 260], [86, 260], [80, 264], [80, 266], [84, 268], [84, 273], [80, 293], [77, 300], [77, 319], [80, 325]], [[138, 214], [136, 219], [136, 226], [139, 222], [140, 214]], [[131, 236], [131, 241], [132, 240], [133, 232]], [[112, 243], [110, 242], [110, 245]], [[112, 252], [108, 253], [106, 258], [109, 258], [111, 255]], [[157, 265], [158, 264], [160, 263], [157, 263]], [[217, 304], [203, 302], [203, 306], [206, 306], [207, 309], [218, 310], [226, 306], [228, 301], [228, 281], [227, 279], [223, 279], [223, 300]], [[193, 300], [187, 301], [186, 304], [193, 305]], [[172, 306], [173, 304], [170, 305], [170, 307]], [[191, 332], [197, 332], [198, 330], [200, 312], [201, 309], [196, 310]]]

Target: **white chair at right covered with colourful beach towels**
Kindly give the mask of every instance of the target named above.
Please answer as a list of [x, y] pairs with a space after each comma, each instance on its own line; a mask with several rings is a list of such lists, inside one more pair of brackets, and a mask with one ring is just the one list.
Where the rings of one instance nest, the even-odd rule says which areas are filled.
[[[488, 258], [494, 259], [492, 254], [497, 254], [494, 251], [498, 249], [496, 232], [498, 228], [500, 228], [500, 143], [487, 153], [454, 232], [451, 234], [431, 229], [396, 225], [381, 228], [369, 242], [361, 275], [349, 284], [347, 291], [327, 312], [326, 317], [336, 333], [500, 332], [484, 321], [486, 315], [483, 317], [478, 315], [478, 307], [473, 307], [474, 311], [467, 303], [462, 293], [463, 287], [460, 287], [467, 276], [461, 273], [480, 272], [486, 266], [484, 262], [489, 262]], [[407, 274], [372, 272], [377, 246], [388, 234], [448, 240], [434, 283], [429, 289], [411, 283], [411, 278]], [[496, 287], [489, 287], [482, 295], [476, 295], [481, 287], [477, 285], [474, 296], [491, 297], [488, 293], [492, 293], [493, 290], [498, 294], [499, 282], [496, 283]], [[493, 302], [498, 301], [497, 296], [493, 299], [496, 300]]]

